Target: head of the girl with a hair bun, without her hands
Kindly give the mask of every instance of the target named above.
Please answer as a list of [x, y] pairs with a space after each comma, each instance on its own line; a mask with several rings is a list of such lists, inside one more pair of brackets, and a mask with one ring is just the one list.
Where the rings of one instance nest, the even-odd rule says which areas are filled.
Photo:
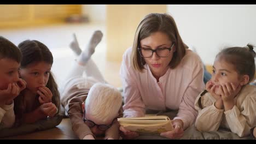
[[224, 83], [248, 84], [255, 74], [254, 57], [252, 45], [223, 49], [214, 61], [212, 82], [217, 86]]

